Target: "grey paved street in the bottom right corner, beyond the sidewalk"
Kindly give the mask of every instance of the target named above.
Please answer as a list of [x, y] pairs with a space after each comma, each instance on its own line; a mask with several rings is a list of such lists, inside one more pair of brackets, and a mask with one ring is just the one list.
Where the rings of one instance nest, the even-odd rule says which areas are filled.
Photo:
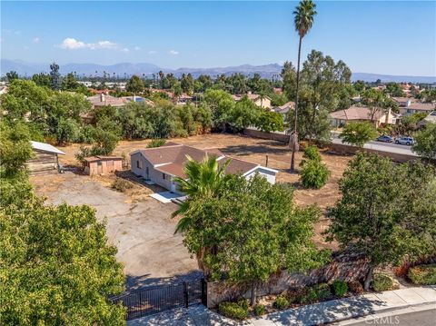
[[436, 325], [436, 310], [415, 311], [395, 315], [392, 311], [391, 316], [368, 316], [365, 321], [353, 323], [352, 326], [368, 325], [400, 325], [400, 326], [434, 326]]

